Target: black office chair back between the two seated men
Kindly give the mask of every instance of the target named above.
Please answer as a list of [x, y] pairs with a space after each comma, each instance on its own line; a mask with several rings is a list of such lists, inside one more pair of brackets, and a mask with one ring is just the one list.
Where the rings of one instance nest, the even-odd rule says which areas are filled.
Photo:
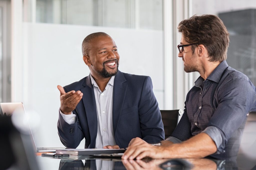
[[165, 139], [172, 135], [183, 110], [160, 110], [164, 124]]

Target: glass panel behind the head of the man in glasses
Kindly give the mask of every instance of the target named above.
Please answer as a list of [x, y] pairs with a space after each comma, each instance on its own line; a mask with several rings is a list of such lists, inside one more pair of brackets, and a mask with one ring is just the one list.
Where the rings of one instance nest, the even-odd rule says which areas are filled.
[[220, 17], [230, 33], [227, 63], [256, 85], [256, 3], [254, 0], [192, 1], [192, 14]]

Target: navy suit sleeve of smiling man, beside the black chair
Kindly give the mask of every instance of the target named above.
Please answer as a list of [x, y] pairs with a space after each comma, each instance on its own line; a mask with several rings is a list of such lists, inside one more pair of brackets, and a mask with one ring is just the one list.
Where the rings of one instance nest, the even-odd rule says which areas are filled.
[[148, 143], [164, 140], [164, 125], [153, 93], [152, 80], [148, 76], [143, 83], [138, 109], [142, 139]]

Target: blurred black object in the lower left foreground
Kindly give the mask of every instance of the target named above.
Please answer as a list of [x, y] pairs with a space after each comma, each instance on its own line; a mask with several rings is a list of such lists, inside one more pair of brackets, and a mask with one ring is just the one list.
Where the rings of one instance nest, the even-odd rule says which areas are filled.
[[0, 116], [0, 170], [39, 169], [29, 135], [20, 133], [10, 116]]

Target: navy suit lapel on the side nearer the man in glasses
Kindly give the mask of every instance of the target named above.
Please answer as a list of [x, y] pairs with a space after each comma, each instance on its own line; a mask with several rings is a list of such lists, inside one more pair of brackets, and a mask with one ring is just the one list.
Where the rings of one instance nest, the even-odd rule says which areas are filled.
[[113, 88], [113, 131], [114, 136], [118, 126], [120, 114], [123, 108], [125, 94], [127, 90], [127, 82], [121, 71], [115, 76]]

